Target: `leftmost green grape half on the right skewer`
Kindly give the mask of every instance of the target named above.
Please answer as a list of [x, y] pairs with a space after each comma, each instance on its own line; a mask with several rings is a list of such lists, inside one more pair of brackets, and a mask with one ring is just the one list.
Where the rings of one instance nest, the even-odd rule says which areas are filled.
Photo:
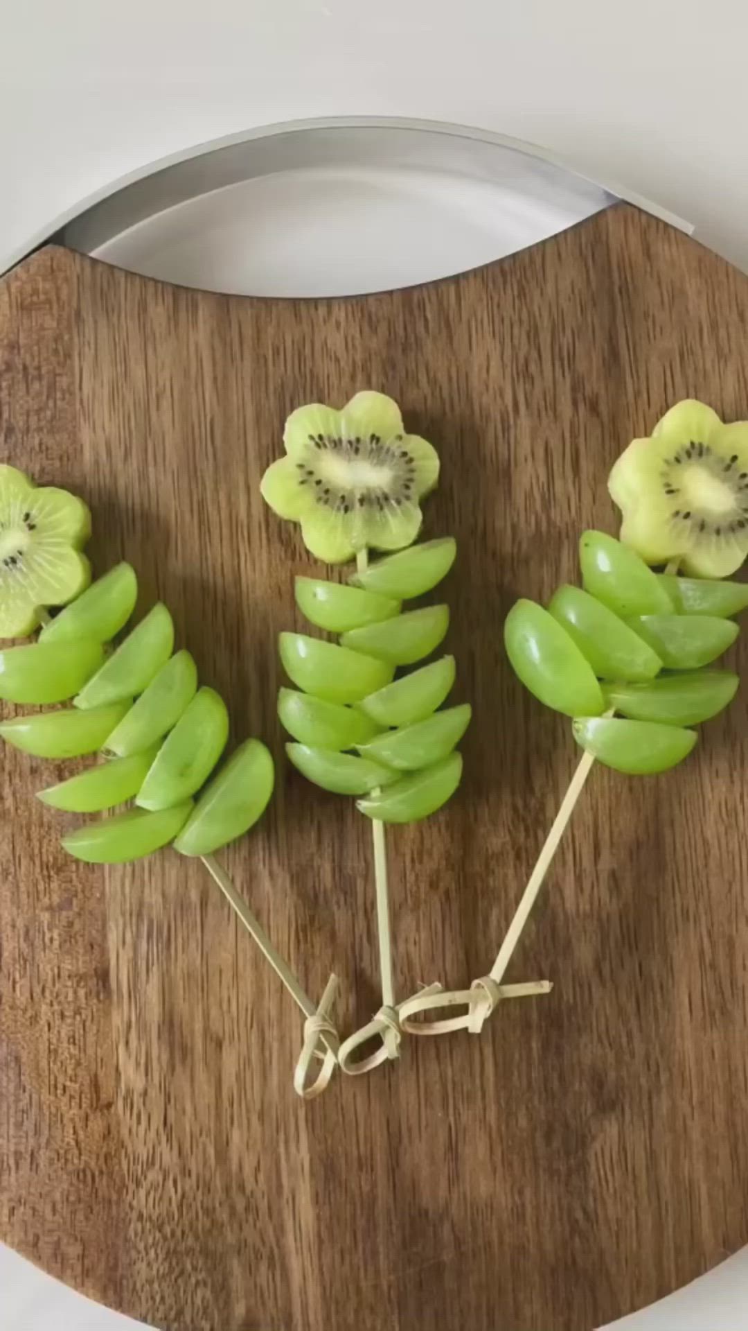
[[567, 716], [604, 712], [592, 667], [542, 606], [534, 600], [512, 606], [504, 623], [504, 644], [515, 673], [546, 707]]

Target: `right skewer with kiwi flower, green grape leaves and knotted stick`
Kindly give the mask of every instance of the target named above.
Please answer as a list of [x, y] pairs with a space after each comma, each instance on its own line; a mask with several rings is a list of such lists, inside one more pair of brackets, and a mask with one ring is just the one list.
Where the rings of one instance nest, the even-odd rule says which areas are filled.
[[[704, 425], [711, 431], [711, 442], [693, 442], [693, 434]], [[673, 445], [671, 438], [676, 427], [687, 431], [683, 453], [679, 441]], [[445, 1034], [459, 1029], [476, 1034], [499, 1000], [506, 997], [504, 973], [595, 760], [632, 775], [665, 771], [685, 757], [696, 743], [696, 732], [685, 727], [708, 720], [735, 695], [736, 675], [692, 667], [711, 663], [735, 640], [737, 626], [729, 623], [728, 616], [748, 604], [744, 584], [717, 580], [720, 574], [732, 572], [748, 550], [741, 514], [725, 520], [729, 496], [724, 479], [739, 461], [732, 449], [743, 449], [740, 465], [748, 467], [748, 423], [723, 427], [711, 409], [685, 402], [671, 409], [655, 437], [659, 433], [664, 433], [659, 443], [656, 439], [635, 441], [611, 473], [610, 490], [624, 511], [622, 539], [627, 539], [627, 546], [600, 532], [587, 532], [582, 538], [586, 591], [562, 588], [551, 600], [551, 616], [555, 614], [570, 635], [568, 642], [556, 628], [551, 631], [550, 616], [540, 607], [520, 602], [510, 612], [507, 652], [526, 687], [547, 705], [570, 715], [576, 711], [576, 700], [588, 700], [592, 715], [574, 720], [575, 739], [586, 752], [490, 973], [472, 981], [468, 990], [410, 1000], [401, 1013], [401, 1024], [413, 1034]], [[729, 447], [725, 443], [729, 458], [717, 469], [721, 478], [717, 486], [723, 486], [724, 494], [723, 490], [717, 494], [711, 473], [707, 479], [700, 474], [701, 470], [713, 471], [712, 454], [719, 457], [720, 435], [729, 435]], [[655, 443], [657, 447], [647, 447]], [[676, 480], [668, 478], [665, 492], [677, 495], [676, 484], [691, 487], [692, 507], [683, 515], [691, 520], [691, 527], [683, 523], [677, 527], [669, 512], [663, 516], [667, 500], [660, 494], [663, 473], [657, 450], [661, 449], [675, 454], [675, 463], [687, 463]], [[708, 511], [711, 502], [719, 503], [716, 515]], [[680, 518], [680, 511], [675, 516]], [[709, 535], [708, 544], [703, 538], [715, 522], [715, 535], [721, 532], [727, 538], [716, 554], [719, 542], [715, 544]], [[664, 550], [671, 555], [667, 560], [661, 555]], [[684, 558], [691, 571], [705, 576], [679, 578]], [[665, 568], [654, 575], [648, 566], [657, 563], [665, 563]], [[656, 677], [663, 666], [679, 673]], [[614, 719], [619, 709], [624, 717], [634, 719]], [[463, 1006], [465, 1012], [441, 1021], [423, 1020], [425, 1013], [441, 1006]]]

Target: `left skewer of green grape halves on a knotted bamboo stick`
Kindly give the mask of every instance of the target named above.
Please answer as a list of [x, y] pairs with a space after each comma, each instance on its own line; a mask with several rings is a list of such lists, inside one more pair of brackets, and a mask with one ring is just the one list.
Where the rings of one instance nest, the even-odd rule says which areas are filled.
[[[0, 490], [3, 479], [0, 469]], [[79, 523], [76, 539], [85, 538], [89, 518], [80, 500], [64, 491], [33, 491], [20, 473], [13, 473], [16, 488], [21, 480], [28, 492], [41, 495], [35, 500], [40, 506], [53, 495], [56, 511], [72, 512]], [[24, 503], [31, 504], [27, 490]], [[80, 514], [85, 515], [84, 527]], [[23, 535], [15, 540], [21, 542]], [[85, 556], [76, 551], [75, 559], [88, 583]], [[228, 719], [218, 695], [212, 689], [196, 692], [197, 669], [189, 652], [169, 655], [173, 624], [168, 610], [154, 607], [105, 658], [101, 644], [124, 628], [134, 608], [137, 579], [132, 567], [118, 564], [91, 587], [81, 587], [79, 576], [77, 595], [72, 598], [76, 584], [71, 584], [67, 566], [59, 584], [49, 572], [45, 576], [49, 603], [67, 602], [55, 616], [45, 606], [19, 610], [15, 587], [16, 599], [8, 606], [0, 596], [0, 623], [23, 624], [27, 631], [41, 626], [37, 644], [0, 651], [0, 696], [32, 704], [67, 701], [73, 692], [79, 696], [72, 708], [0, 723], [0, 735], [43, 757], [75, 757], [97, 749], [113, 755], [102, 765], [39, 792], [39, 797], [73, 812], [97, 812], [132, 799], [146, 808], [80, 825], [63, 839], [65, 849], [89, 862], [124, 862], [173, 840], [180, 853], [200, 857], [305, 1017], [294, 1090], [305, 1099], [321, 1094], [337, 1065], [338, 1036], [330, 1008], [338, 981], [330, 976], [315, 1008], [213, 856], [262, 816], [273, 789], [270, 753], [258, 740], [240, 745], [194, 804], [192, 796], [225, 744]], [[133, 695], [140, 695], [134, 705]], [[197, 707], [196, 724], [190, 712], [194, 716]]]

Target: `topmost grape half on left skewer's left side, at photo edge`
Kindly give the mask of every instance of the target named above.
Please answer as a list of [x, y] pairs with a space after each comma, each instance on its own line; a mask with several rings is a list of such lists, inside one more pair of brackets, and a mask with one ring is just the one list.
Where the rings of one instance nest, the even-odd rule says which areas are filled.
[[8, 703], [65, 703], [98, 669], [101, 643], [32, 643], [0, 652], [0, 697]]

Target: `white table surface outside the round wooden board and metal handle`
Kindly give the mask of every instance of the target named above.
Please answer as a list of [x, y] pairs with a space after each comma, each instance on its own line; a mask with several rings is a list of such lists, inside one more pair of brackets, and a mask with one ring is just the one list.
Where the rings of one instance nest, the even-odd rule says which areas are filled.
[[[747, 45], [737, 0], [0, 0], [0, 272], [146, 162], [341, 114], [534, 141], [748, 269]], [[0, 1246], [1, 1331], [134, 1326]], [[616, 1323], [715, 1328], [748, 1331], [748, 1250]]]

